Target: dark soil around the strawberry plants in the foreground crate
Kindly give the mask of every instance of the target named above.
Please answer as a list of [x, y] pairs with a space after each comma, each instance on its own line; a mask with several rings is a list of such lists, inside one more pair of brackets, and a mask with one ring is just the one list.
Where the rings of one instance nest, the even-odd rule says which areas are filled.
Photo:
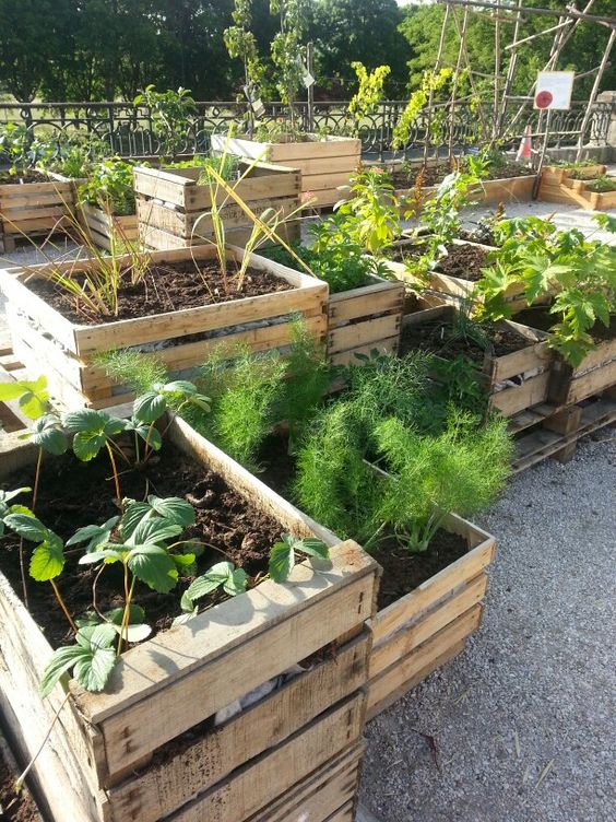
[[[4, 488], [32, 486], [32, 471], [20, 471], [3, 483]], [[215, 562], [230, 560], [244, 567], [250, 576], [266, 571], [270, 549], [280, 539], [282, 527], [230, 490], [217, 474], [209, 471], [173, 445], [140, 469], [128, 470], [120, 477], [122, 496], [144, 500], [147, 494], [161, 497], [180, 496], [188, 500], [197, 512], [196, 525], [188, 528], [181, 539], [208, 543], [199, 557], [199, 573], [204, 573]], [[114, 485], [109, 462], [100, 456], [93, 462], [80, 462], [72, 456], [44, 461], [36, 515], [48, 528], [67, 539], [85, 525], [102, 524], [118, 514], [112, 501]], [[27, 498], [19, 498], [28, 504]], [[216, 550], [217, 549], [217, 550]], [[32, 545], [26, 543], [27, 556]], [[221, 552], [224, 552], [221, 553]], [[92, 610], [92, 582], [94, 569], [78, 565], [83, 549], [67, 551], [67, 564], [58, 585], [70, 611], [79, 615]], [[21, 595], [19, 573], [19, 541], [10, 537], [3, 541], [0, 567]], [[154, 631], [169, 627], [180, 612], [179, 601], [190, 579], [181, 578], [169, 594], [157, 594], [139, 584], [135, 602], [146, 612], [146, 621]], [[115, 565], [108, 566], [97, 584], [97, 606], [100, 611], [120, 607], [121, 574]], [[51, 587], [28, 578], [29, 610], [45, 631], [51, 645], [70, 638], [68, 624], [58, 608]], [[224, 599], [216, 594], [209, 604]]]

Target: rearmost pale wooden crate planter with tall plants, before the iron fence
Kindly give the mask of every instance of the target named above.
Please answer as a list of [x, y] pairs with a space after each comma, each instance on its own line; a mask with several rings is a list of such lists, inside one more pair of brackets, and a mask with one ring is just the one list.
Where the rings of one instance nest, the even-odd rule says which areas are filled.
[[315, 196], [316, 208], [343, 199], [339, 186], [348, 185], [362, 160], [362, 141], [351, 137], [306, 134], [303, 142], [260, 142], [248, 137], [212, 134], [212, 149], [239, 157], [298, 168], [301, 191]]

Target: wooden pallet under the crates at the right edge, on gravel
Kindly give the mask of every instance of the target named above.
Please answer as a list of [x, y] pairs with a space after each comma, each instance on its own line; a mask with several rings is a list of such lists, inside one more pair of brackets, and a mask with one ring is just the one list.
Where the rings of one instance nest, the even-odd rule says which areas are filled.
[[518, 473], [552, 457], [569, 462], [578, 442], [592, 432], [616, 422], [615, 387], [602, 397], [593, 397], [577, 406], [535, 406], [509, 423], [516, 436], [513, 472]]

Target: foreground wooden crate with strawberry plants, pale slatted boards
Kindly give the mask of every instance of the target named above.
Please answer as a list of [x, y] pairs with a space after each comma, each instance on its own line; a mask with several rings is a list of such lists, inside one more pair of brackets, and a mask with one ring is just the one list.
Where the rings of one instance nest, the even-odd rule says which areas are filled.
[[[284, 585], [266, 580], [118, 660], [102, 694], [70, 685], [68, 703], [34, 767], [55, 822], [244, 822], [358, 741], [364, 726], [379, 566], [353, 542], [304, 516], [183, 421], [170, 442], [221, 474], [283, 530], [333, 544], [331, 563], [303, 563]], [[36, 451], [0, 436], [0, 478]], [[1, 456], [1, 455], [0, 455]], [[318, 649], [333, 655], [165, 760], [162, 745]], [[64, 700], [36, 690], [51, 648], [0, 575], [0, 704], [24, 756], [38, 747]], [[346, 797], [344, 797], [346, 799]], [[283, 817], [284, 819], [284, 817]]]

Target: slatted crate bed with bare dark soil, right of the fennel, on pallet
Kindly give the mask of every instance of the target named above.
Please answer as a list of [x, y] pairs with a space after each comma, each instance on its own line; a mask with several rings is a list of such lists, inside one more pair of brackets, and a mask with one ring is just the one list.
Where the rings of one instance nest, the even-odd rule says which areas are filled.
[[441, 362], [464, 355], [475, 365], [477, 378], [489, 395], [488, 408], [504, 416], [547, 400], [553, 363], [547, 333], [502, 320], [485, 326], [489, 333], [483, 348], [467, 336], [452, 334], [455, 316], [453, 306], [443, 306], [404, 317], [401, 355], [429, 351]]

